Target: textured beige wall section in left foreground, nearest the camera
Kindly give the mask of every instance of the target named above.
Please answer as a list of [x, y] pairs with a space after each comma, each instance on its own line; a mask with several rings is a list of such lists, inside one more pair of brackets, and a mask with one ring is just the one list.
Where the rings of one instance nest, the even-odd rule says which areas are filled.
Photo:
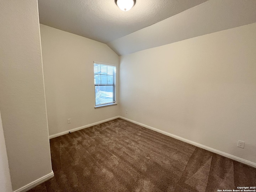
[[0, 15], [0, 110], [17, 190], [52, 172], [37, 0], [1, 1]]

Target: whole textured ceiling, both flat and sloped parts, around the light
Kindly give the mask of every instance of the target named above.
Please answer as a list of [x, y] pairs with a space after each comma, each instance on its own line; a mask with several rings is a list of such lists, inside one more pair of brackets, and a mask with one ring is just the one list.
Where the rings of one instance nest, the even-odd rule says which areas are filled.
[[256, 0], [38, 0], [41, 24], [106, 43], [118, 55], [256, 22]]

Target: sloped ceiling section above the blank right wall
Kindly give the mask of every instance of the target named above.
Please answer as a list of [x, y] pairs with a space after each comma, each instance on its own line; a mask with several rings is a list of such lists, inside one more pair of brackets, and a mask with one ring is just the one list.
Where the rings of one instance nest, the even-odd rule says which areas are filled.
[[107, 45], [126, 55], [255, 22], [256, 0], [209, 0]]

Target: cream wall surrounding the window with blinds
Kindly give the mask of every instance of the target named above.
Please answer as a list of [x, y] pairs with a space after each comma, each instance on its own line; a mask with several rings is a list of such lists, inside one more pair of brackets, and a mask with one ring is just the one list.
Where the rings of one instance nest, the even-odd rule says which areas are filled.
[[118, 55], [106, 44], [82, 36], [42, 24], [40, 31], [49, 134], [118, 116], [118, 106], [94, 109], [93, 68], [98, 61], [117, 64], [118, 71]]

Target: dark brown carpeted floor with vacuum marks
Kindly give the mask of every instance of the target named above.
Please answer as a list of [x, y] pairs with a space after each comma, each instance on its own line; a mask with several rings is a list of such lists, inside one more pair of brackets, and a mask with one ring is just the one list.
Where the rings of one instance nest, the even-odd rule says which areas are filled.
[[54, 178], [29, 192], [217, 192], [256, 169], [120, 118], [50, 140]]

